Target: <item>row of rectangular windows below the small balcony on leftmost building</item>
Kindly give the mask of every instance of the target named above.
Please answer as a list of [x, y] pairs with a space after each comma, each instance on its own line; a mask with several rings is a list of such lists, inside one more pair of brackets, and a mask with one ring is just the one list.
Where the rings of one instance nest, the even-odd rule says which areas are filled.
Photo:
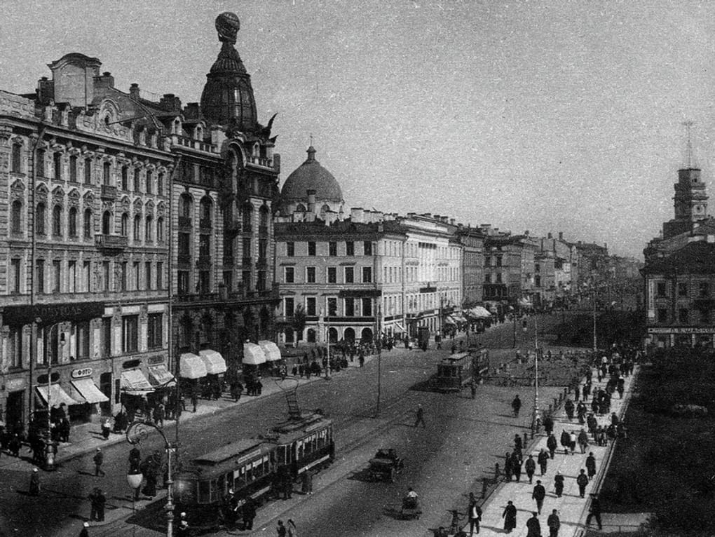
[[[97, 270], [97, 285], [92, 285], [92, 265], [92, 261], [52, 260], [48, 263], [44, 259], [36, 260], [34, 280], [36, 292], [116, 292], [164, 289], [163, 262], [135, 261], [130, 264], [126, 261], [103, 261]], [[97, 265], [97, 262], [94, 262], [94, 265]], [[8, 267], [9, 294], [17, 295], [26, 292], [23, 282], [24, 261], [13, 257]]]

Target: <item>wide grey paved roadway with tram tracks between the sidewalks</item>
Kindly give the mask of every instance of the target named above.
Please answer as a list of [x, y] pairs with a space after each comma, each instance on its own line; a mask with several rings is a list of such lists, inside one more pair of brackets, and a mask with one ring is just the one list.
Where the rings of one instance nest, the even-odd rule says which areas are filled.
[[[482, 339], [488, 346], [511, 347], [512, 338], [512, 325], [507, 323], [493, 328]], [[526, 338], [528, 334], [518, 332], [520, 344], [526, 346]], [[459, 397], [410, 390], [434, 372], [449, 346], [446, 343], [442, 351], [427, 353], [399, 349], [383, 354], [382, 408], [378, 418], [373, 417], [377, 360], [365, 368], [340, 373], [330, 381], [302, 387], [299, 397], [303, 408], [323, 408], [335, 419], [337, 461], [317, 476], [316, 494], [310, 500], [294, 496], [291, 501], [262, 508], [257, 533], [266, 529], [272, 532], [275, 518], [281, 516], [299, 523], [302, 535], [316, 537], [335, 535], [336, 527], [340, 528], [338, 534], [345, 536], [415, 535], [420, 533], [418, 528], [434, 527], [443, 521], [446, 509], [464, 503], [463, 495], [483, 472], [493, 468], [514, 433], [526, 430], [531, 408], [530, 398], [523, 396], [522, 417], [508, 415], [514, 388], [483, 386], [476, 400], [467, 398], [466, 393]], [[412, 426], [418, 401], [425, 406], [428, 427], [424, 430]], [[275, 395], [182, 423], [182, 458], [260, 434], [283, 418], [285, 412], [285, 400]], [[173, 437], [172, 428], [167, 428], [167, 436]], [[365, 467], [375, 449], [384, 445], [393, 445], [405, 457], [408, 468], [398, 482], [365, 483], [354, 478], [353, 474]], [[142, 444], [142, 453], [161, 447], [157, 437]], [[123, 531], [156, 536], [157, 531], [124, 522], [132, 509], [125, 478], [128, 451], [127, 444], [105, 449], [104, 478], [94, 478], [91, 453], [67, 461], [55, 473], [43, 473], [46, 492], [41, 498], [26, 496], [27, 463], [5, 466], [0, 474], [0, 528], [8, 535], [77, 535], [80, 521], [89, 516], [87, 494], [94, 486], [102, 486], [109, 500], [108, 511], [120, 510], [126, 515], [114, 516], [121, 519], [117, 523], [92, 528], [93, 537]], [[413, 486], [423, 496], [425, 513], [420, 521], [397, 521], [391, 516], [390, 509], [398, 506], [407, 486]], [[147, 503], [142, 501], [137, 506], [141, 509]], [[152, 508], [148, 511], [154, 512]], [[162, 515], [157, 513], [157, 517]], [[142, 522], [146, 517], [137, 519]]]

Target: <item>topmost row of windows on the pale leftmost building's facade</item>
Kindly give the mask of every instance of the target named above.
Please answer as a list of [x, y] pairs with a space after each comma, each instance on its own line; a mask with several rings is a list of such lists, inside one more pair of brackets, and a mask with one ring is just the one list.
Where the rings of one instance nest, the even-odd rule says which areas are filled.
[[[21, 144], [13, 144], [10, 159], [10, 170], [13, 173], [24, 173], [24, 159], [22, 152], [23, 147]], [[79, 159], [77, 155], [71, 154], [69, 155], [68, 168], [66, 170], [64, 168], [62, 157], [63, 154], [61, 152], [53, 152], [51, 169], [48, 169], [47, 164], [49, 164], [49, 162], [46, 158], [46, 151], [44, 149], [38, 149], [36, 153], [38, 177], [52, 177], [55, 181], [63, 181], [65, 177], [67, 177], [70, 182], [79, 182], [79, 177], [82, 177], [84, 184], [92, 184], [92, 169], [94, 167], [92, 157]], [[79, 169], [80, 164], [82, 165], [82, 171]], [[112, 172], [112, 163], [103, 162], [102, 184], [114, 186]], [[144, 192], [146, 194], [154, 194], [154, 192], [156, 192], [159, 196], [164, 195], [164, 173], [158, 172], [155, 175], [152, 169], [145, 170], [143, 186], [144, 188], [142, 188], [141, 169], [135, 167], [130, 173], [129, 166], [124, 165], [121, 167], [117, 187], [126, 191], [133, 190], [134, 192]]]

